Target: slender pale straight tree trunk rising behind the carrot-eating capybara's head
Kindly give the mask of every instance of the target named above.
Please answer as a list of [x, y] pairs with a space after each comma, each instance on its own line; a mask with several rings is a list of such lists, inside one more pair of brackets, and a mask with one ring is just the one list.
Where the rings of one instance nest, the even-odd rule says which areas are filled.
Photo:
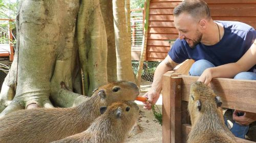
[[[127, 39], [124, 1], [113, 0], [114, 29], [117, 57], [117, 79], [135, 82], [132, 70], [131, 42]], [[125, 56], [123, 56], [125, 55]]]

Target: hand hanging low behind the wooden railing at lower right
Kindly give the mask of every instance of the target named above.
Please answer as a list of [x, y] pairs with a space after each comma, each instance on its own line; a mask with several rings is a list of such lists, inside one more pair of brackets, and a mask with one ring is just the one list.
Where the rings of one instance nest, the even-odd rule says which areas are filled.
[[255, 113], [250, 113], [250, 112], [244, 112], [244, 115], [238, 116], [239, 110], [234, 110], [233, 112], [233, 120], [236, 121], [239, 125], [241, 126], [248, 126], [255, 120], [252, 118], [255, 118], [256, 114]]

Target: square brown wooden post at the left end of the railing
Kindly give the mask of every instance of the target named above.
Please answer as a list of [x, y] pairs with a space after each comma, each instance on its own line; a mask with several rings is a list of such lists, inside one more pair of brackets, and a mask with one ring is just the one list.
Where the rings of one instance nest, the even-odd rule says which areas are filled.
[[181, 142], [181, 77], [163, 75], [163, 142]]

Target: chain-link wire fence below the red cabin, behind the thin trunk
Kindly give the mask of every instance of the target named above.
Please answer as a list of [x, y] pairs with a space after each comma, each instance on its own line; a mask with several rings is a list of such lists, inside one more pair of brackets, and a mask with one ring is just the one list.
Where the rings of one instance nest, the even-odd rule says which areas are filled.
[[[153, 82], [155, 70], [160, 62], [157, 61], [144, 61], [141, 78], [145, 81]], [[133, 72], [136, 75], [138, 72], [138, 61], [132, 61]]]

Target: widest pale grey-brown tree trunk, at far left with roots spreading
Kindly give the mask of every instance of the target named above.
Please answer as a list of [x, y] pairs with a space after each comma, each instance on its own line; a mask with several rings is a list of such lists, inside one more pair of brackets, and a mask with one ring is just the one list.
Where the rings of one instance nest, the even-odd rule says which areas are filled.
[[[49, 96], [56, 97], [60, 81], [72, 88], [74, 66], [71, 63], [75, 56], [78, 7], [78, 0], [22, 1], [17, 16], [17, 50], [8, 74], [14, 78], [8, 79], [12, 82], [5, 82], [11, 88], [4, 88], [2, 97], [7, 97], [7, 92], [16, 92], [0, 116], [30, 105], [51, 108]], [[13, 73], [17, 74], [17, 80]]]

